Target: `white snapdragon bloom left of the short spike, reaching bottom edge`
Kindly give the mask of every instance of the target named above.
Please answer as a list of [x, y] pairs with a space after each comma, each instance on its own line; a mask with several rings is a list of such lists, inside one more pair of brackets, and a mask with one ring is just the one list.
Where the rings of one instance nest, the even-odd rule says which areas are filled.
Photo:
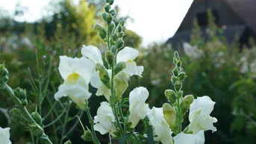
[[163, 144], [173, 144], [172, 130], [163, 117], [163, 109], [153, 107], [147, 113], [150, 124], [153, 126], [153, 135], [155, 141], [160, 141]]

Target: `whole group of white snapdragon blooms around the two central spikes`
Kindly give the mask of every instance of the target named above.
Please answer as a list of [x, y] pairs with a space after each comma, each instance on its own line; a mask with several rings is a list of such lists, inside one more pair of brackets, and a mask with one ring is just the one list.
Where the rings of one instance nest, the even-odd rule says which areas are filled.
[[[62, 96], [69, 96], [81, 110], [85, 110], [87, 99], [90, 98], [88, 85], [91, 84], [97, 89], [96, 96], [104, 96], [107, 101], [103, 101], [94, 117], [94, 129], [100, 134], [110, 133], [115, 137], [117, 131], [114, 123], [116, 117], [113, 108], [108, 103], [110, 101], [110, 87], [101, 80], [101, 72], [97, 66], [104, 66], [102, 54], [99, 48], [95, 46], [83, 46], [81, 49], [81, 58], [71, 58], [60, 56], [60, 75], [64, 82], [60, 85], [55, 98], [58, 100]], [[138, 51], [134, 48], [125, 47], [117, 53], [116, 63], [125, 62], [125, 69], [119, 72], [113, 78], [114, 89], [119, 88], [122, 83], [127, 83], [128, 77], [138, 75], [141, 77], [143, 66], [137, 66], [134, 59], [138, 56]], [[104, 67], [103, 67], [104, 68]], [[105, 68], [104, 68], [105, 69]], [[111, 78], [111, 69], [105, 69]], [[119, 76], [120, 73], [125, 75]], [[116, 78], [116, 79], [115, 79]], [[122, 82], [120, 82], [122, 81]], [[126, 87], [125, 87], [126, 89]], [[122, 96], [123, 91], [121, 92]], [[163, 113], [163, 107], [149, 108], [146, 100], [149, 98], [149, 91], [145, 87], [137, 87], [129, 95], [129, 112], [128, 122], [131, 122], [131, 128], [135, 128], [141, 119], [149, 118], [150, 125], [153, 128], [155, 141], [163, 144], [203, 144], [205, 143], [204, 131], [216, 131], [213, 126], [217, 122], [216, 118], [210, 116], [215, 102], [208, 96], [199, 97], [190, 105], [189, 121], [190, 125], [185, 128], [184, 132], [172, 137], [173, 131]]]

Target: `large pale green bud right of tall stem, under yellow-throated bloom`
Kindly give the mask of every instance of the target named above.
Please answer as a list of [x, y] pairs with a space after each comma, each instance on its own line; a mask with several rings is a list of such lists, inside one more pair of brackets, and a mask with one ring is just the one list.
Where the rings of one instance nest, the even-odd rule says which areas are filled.
[[128, 87], [128, 78], [128, 75], [123, 71], [114, 76], [113, 87], [116, 101], [119, 101], [119, 99], [122, 98], [122, 94], [125, 93], [125, 90]]

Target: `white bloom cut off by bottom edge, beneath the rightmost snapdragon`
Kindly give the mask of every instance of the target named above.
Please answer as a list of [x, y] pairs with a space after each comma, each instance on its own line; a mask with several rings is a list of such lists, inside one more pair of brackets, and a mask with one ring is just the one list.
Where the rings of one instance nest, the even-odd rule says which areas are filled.
[[173, 137], [174, 144], [204, 144], [205, 132], [199, 131], [196, 134], [180, 133]]

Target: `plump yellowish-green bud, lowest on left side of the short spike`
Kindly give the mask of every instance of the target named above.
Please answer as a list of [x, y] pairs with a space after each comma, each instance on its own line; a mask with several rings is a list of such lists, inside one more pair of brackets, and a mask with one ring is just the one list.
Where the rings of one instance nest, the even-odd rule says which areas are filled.
[[172, 128], [172, 130], [175, 130], [176, 128], [176, 111], [175, 108], [172, 107], [171, 104], [165, 103], [163, 104], [163, 117], [166, 119], [166, 122], [168, 123], [169, 127]]

